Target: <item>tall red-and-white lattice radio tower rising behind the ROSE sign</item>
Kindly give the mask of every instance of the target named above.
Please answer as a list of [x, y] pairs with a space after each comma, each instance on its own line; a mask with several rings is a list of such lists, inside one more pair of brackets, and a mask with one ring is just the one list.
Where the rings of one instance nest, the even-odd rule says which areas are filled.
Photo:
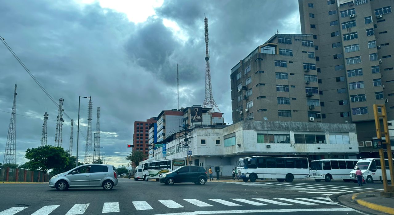
[[214, 97], [212, 96], [212, 84], [211, 84], [211, 69], [209, 67], [209, 50], [208, 50], [208, 18], [204, 18], [205, 27], [205, 100], [203, 107], [212, 108], [215, 112], [215, 108], [220, 112], [217, 107]]

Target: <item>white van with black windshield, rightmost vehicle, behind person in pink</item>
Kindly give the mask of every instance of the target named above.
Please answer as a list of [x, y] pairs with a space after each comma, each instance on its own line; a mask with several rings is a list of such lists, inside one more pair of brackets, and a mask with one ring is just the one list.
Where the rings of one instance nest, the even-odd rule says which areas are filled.
[[[392, 161], [394, 164], [394, 160]], [[360, 167], [362, 175], [364, 176], [364, 180], [367, 183], [374, 183], [374, 181], [382, 179], [382, 166], [380, 162], [380, 158], [362, 158], [357, 162], [353, 171], [350, 172], [350, 180], [357, 183], [356, 170], [357, 167]], [[386, 167], [386, 177], [387, 180], [390, 180], [390, 170], [388, 167], [388, 159], [385, 159], [385, 167]]]

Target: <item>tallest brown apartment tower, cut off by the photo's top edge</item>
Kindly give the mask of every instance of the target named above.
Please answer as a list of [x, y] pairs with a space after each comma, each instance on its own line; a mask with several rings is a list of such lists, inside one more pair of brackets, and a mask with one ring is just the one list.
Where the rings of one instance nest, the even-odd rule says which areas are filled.
[[[355, 123], [360, 151], [373, 151], [374, 104], [394, 136], [393, 0], [299, 0], [301, 32], [313, 35], [323, 122]], [[391, 99], [393, 98], [393, 99]]]

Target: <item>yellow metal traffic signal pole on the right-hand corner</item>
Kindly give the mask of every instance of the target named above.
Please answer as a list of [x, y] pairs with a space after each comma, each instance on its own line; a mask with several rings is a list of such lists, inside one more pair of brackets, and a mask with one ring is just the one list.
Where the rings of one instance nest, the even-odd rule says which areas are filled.
[[[378, 112], [378, 108], [381, 108], [381, 113]], [[382, 144], [386, 144], [387, 148], [387, 158], [388, 158], [388, 166], [389, 166], [389, 174], [391, 179], [391, 186], [388, 185], [387, 176], [386, 176], [386, 164], [385, 164], [385, 154], [383, 148], [379, 149], [381, 170], [382, 170], [382, 179], [383, 179], [383, 189], [381, 192], [381, 196], [391, 196], [394, 197], [394, 173], [393, 173], [393, 160], [391, 154], [391, 143], [390, 143], [390, 135], [388, 133], [388, 123], [387, 123], [387, 114], [385, 105], [374, 104], [374, 116], [375, 116], [375, 127], [376, 127], [376, 136], [377, 138], [381, 138], [382, 134], [385, 135], [385, 142], [382, 141]], [[383, 132], [380, 126], [380, 117], [383, 119]]]

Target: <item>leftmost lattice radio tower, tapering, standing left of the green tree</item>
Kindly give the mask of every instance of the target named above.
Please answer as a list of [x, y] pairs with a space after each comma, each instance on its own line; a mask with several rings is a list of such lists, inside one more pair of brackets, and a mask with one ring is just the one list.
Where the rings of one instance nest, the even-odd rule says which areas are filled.
[[14, 103], [12, 104], [12, 112], [11, 112], [11, 119], [9, 120], [9, 127], [8, 127], [8, 135], [7, 135], [7, 144], [6, 144], [6, 153], [4, 154], [3, 164], [15, 164], [15, 101], [17, 98], [17, 85], [15, 85], [14, 91]]

